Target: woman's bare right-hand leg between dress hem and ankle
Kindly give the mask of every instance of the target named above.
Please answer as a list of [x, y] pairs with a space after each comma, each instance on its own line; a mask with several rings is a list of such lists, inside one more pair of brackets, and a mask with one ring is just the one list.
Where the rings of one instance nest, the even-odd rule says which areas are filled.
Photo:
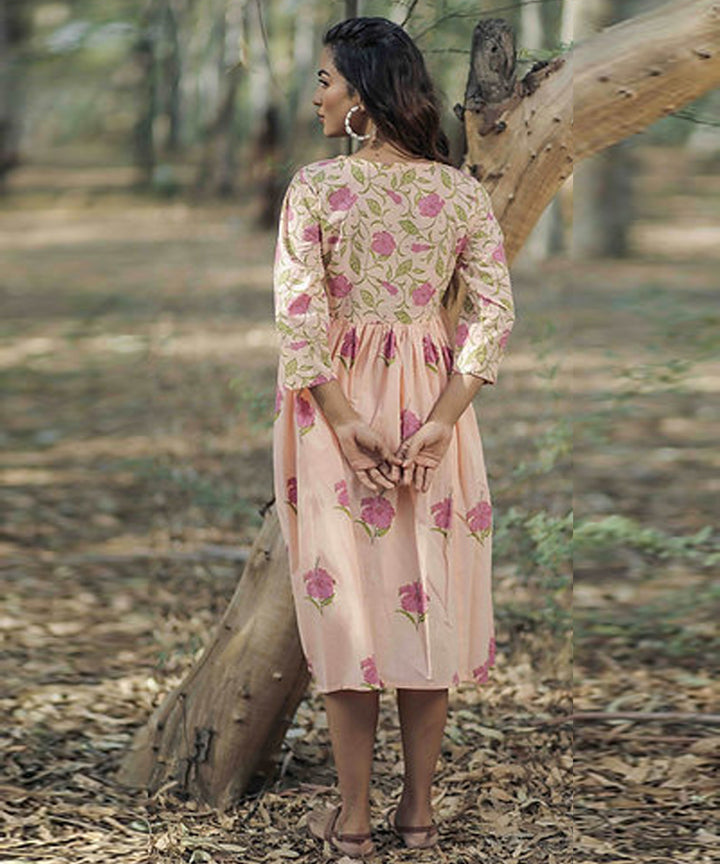
[[414, 827], [432, 821], [432, 781], [447, 720], [448, 691], [398, 688], [405, 779], [397, 810], [398, 825]]

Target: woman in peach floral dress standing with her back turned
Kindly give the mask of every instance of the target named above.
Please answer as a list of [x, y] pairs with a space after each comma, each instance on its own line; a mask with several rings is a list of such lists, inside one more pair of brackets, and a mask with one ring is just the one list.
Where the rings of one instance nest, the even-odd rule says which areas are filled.
[[[494, 661], [492, 508], [471, 400], [496, 380], [514, 308], [489, 196], [450, 164], [402, 28], [332, 27], [313, 104], [327, 137], [366, 143], [301, 168], [283, 202], [274, 482], [342, 799], [308, 824], [366, 857], [379, 691], [397, 689], [405, 764], [388, 819], [407, 846], [430, 846], [448, 688], [481, 684]], [[453, 274], [467, 296], [449, 333]]]

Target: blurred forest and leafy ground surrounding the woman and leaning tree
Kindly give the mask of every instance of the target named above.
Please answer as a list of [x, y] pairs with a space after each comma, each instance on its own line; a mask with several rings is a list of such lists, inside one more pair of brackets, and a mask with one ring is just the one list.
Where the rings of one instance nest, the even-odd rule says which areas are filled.
[[[459, 165], [478, 20], [512, 24], [522, 76], [661, 5], [0, 0], [12, 860], [315, 860], [286, 842], [333, 782], [312, 693], [279, 779], [235, 814], [111, 778], [207, 643], [272, 496], [278, 205], [297, 167], [347, 152], [311, 104], [324, 30], [353, 9], [404, 22]], [[573, 755], [561, 721], [573, 697], [717, 713], [719, 167], [715, 91], [577, 166], [511, 268], [517, 323], [475, 403], [498, 665], [453, 695], [447, 860], [564, 864], [573, 818], [577, 861], [713, 860], [702, 724], [580, 726]], [[382, 710], [377, 803], [401, 764]]]

